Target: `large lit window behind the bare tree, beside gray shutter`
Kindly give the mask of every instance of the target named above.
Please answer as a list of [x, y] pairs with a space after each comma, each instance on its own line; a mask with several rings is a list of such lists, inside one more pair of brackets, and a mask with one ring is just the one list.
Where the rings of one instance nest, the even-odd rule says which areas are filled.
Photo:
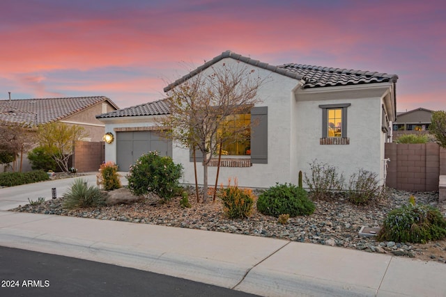
[[233, 156], [251, 154], [251, 114], [229, 115], [217, 130], [218, 136], [233, 136], [222, 143], [222, 154]]

